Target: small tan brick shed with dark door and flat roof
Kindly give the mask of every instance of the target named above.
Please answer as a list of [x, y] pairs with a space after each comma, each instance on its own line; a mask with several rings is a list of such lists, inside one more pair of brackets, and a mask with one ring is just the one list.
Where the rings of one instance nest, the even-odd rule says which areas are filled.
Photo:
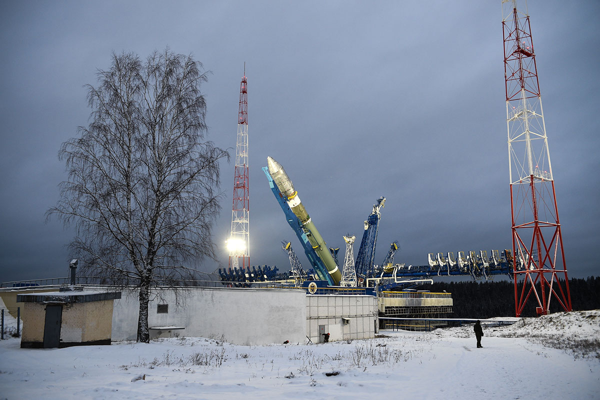
[[113, 303], [121, 292], [18, 294], [24, 303], [22, 348], [110, 344]]

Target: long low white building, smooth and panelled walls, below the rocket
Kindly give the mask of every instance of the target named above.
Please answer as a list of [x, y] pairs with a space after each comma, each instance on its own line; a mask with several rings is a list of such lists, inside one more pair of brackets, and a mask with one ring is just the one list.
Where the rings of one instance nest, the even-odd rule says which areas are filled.
[[[377, 325], [374, 296], [298, 289], [166, 289], [151, 299], [148, 309], [154, 337], [167, 333], [242, 345], [305, 343], [309, 338], [319, 343], [322, 333], [330, 333], [330, 341], [373, 338]], [[115, 300], [113, 340], [136, 339], [138, 312], [137, 292], [124, 290]]]

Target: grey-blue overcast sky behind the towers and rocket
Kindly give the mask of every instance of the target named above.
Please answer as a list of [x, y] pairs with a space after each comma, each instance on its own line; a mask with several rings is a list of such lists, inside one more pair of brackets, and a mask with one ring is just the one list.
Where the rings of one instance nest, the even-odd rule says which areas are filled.
[[[599, 275], [600, 2], [528, 5], [569, 276]], [[83, 86], [113, 51], [166, 46], [212, 71], [208, 138], [232, 155], [246, 62], [251, 264], [288, 270], [292, 240], [308, 267], [268, 155], [342, 254], [380, 196], [377, 263], [393, 240], [413, 265], [512, 246], [500, 0], [5, 1], [0, 21], [0, 281], [67, 275], [74, 232], [44, 212], [67, 178], [58, 149], [88, 124]], [[226, 266], [233, 164], [221, 176]]]

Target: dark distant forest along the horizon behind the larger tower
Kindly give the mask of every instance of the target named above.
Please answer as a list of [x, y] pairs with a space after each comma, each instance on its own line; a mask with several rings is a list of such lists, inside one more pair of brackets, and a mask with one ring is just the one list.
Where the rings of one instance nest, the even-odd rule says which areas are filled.
[[[561, 281], [564, 289], [564, 281]], [[436, 282], [418, 290], [452, 293], [451, 318], [491, 318], [515, 316], [515, 286], [513, 281]], [[600, 276], [569, 279], [573, 311], [600, 309]], [[538, 305], [532, 296], [527, 300], [521, 317], [535, 317]], [[550, 301], [550, 311], [563, 311], [556, 297]]]

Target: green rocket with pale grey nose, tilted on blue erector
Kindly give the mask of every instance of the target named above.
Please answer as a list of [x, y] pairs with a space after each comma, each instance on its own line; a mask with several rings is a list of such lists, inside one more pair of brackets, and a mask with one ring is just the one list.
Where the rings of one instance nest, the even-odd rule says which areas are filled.
[[286, 171], [283, 169], [280, 163], [274, 160], [272, 157], [266, 158], [267, 167], [269, 169], [269, 175], [273, 178], [273, 181], [279, 188], [281, 196], [286, 200], [287, 205], [292, 209], [294, 215], [298, 218], [298, 221], [302, 224], [302, 230], [308, 238], [314, 251], [317, 253], [325, 267], [327, 268], [329, 275], [331, 275], [334, 285], [338, 285], [341, 280], [341, 272], [335, 263], [334, 258], [329, 252], [329, 248], [321, 237], [321, 234], [314, 226], [313, 221], [308, 215], [307, 210], [304, 208], [304, 204], [298, 197], [298, 192], [294, 190], [294, 185], [287, 176]]

